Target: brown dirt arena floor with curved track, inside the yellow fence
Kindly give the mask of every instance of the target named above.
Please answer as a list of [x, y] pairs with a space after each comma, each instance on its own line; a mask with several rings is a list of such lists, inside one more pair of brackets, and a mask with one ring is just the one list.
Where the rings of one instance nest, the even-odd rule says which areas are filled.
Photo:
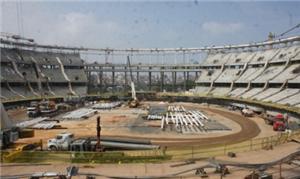
[[[144, 103], [145, 105], [152, 102]], [[176, 103], [177, 104], [177, 103]], [[188, 109], [197, 109], [205, 113], [209, 118], [218, 120], [218, 122], [230, 127], [229, 131], [206, 132], [201, 134], [178, 134], [177, 132], [164, 132], [160, 129], [160, 121], [147, 121], [139, 118], [147, 113], [143, 109], [130, 109], [121, 107], [113, 110], [102, 110], [93, 117], [86, 120], [63, 120], [58, 125], [60, 129], [35, 130], [34, 138], [20, 139], [17, 143], [31, 143], [43, 141], [44, 146], [47, 140], [55, 137], [61, 132], [72, 132], [76, 137], [96, 136], [96, 118], [101, 116], [101, 135], [114, 137], [128, 137], [151, 140], [154, 144], [162, 146], [201, 144], [203, 146], [215, 144], [229, 144], [241, 142], [253, 137], [263, 137], [273, 135], [269, 126], [262, 123], [260, 118], [245, 118], [237, 112], [228, 111], [216, 106], [203, 106], [193, 103], [179, 103]], [[179, 105], [177, 104], [177, 105]], [[23, 111], [23, 116], [24, 116]], [[22, 116], [22, 113], [17, 113]], [[58, 116], [57, 118], [60, 118]], [[16, 116], [14, 116], [16, 118]], [[257, 125], [258, 124], [258, 125]], [[261, 133], [261, 131], [263, 131]], [[263, 135], [261, 135], [263, 134]]]

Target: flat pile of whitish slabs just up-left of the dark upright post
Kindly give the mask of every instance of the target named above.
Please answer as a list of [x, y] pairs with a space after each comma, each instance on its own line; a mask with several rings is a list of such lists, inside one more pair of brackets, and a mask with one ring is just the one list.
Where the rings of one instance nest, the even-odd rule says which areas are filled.
[[89, 109], [89, 108], [80, 108], [75, 111], [68, 112], [62, 118], [63, 119], [71, 119], [71, 120], [80, 120], [86, 119], [98, 113], [97, 110]]

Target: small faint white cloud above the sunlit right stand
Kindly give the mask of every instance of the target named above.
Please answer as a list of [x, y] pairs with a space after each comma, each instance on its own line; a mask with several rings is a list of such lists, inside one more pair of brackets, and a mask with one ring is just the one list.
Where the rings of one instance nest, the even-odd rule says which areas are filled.
[[219, 23], [219, 22], [205, 22], [201, 28], [212, 34], [232, 34], [243, 28], [242, 23]]

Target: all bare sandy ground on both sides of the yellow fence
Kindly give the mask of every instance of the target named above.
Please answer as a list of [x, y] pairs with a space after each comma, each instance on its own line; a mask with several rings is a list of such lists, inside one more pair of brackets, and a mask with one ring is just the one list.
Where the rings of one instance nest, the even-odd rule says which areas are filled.
[[[187, 108], [191, 109], [199, 109], [205, 112], [208, 116], [213, 118], [217, 118], [220, 123], [232, 127], [232, 131], [225, 133], [223, 132], [215, 132], [215, 133], [205, 133], [202, 135], [180, 135], [180, 134], [166, 134], [166, 133], [157, 133], [153, 134], [158, 136], [167, 136], [170, 135], [174, 138], [173, 141], [187, 141], [195, 138], [197, 143], [199, 140], [207, 140], [214, 141], [216, 140], [223, 141], [226, 139], [232, 142], [236, 140], [245, 140], [253, 137], [266, 137], [276, 134], [272, 130], [271, 126], [268, 126], [264, 123], [264, 121], [260, 117], [252, 117], [245, 118], [240, 115], [239, 112], [228, 111], [224, 108], [220, 108], [218, 106], [207, 106], [199, 105], [199, 104], [188, 104], [182, 103]], [[102, 124], [102, 135], [120, 135], [120, 136], [148, 136], [149, 134], [143, 134], [139, 131], [129, 130], [128, 126], [137, 125], [137, 126], [156, 126], [156, 121], [149, 121], [144, 123], [137, 123], [136, 118], [138, 115], [143, 114], [145, 111], [136, 110], [136, 109], [128, 109], [128, 108], [119, 108], [111, 111], [100, 111], [101, 115], [101, 124]], [[16, 121], [21, 121], [24, 118], [24, 111], [10, 112], [10, 115], [15, 115], [14, 119]], [[86, 136], [86, 135], [95, 135], [95, 127], [96, 127], [96, 117], [93, 116], [88, 120], [80, 120], [80, 121], [62, 121], [59, 123], [65, 129], [52, 129], [52, 130], [35, 130], [35, 137], [29, 139], [21, 139], [18, 142], [32, 142], [39, 141], [42, 139], [45, 141], [49, 138], [54, 137], [57, 133], [63, 131], [74, 132], [76, 136]], [[251, 125], [255, 128], [253, 130]], [[160, 129], [159, 129], [160, 130]], [[246, 132], [246, 133], [245, 133]], [[226, 135], [225, 135], [226, 134]], [[225, 136], [224, 136], [225, 135]], [[231, 135], [231, 136], [230, 136]], [[219, 138], [218, 138], [219, 137]], [[187, 139], [190, 138], [190, 139]], [[168, 139], [169, 140], [169, 139]], [[165, 142], [165, 141], [164, 141]], [[186, 144], [183, 144], [186, 145]], [[241, 163], [261, 163], [268, 162], [272, 160], [279, 159], [291, 152], [299, 150], [299, 144], [297, 143], [287, 143], [281, 146], [275, 147], [273, 150], [259, 150], [252, 151], [246, 153], [238, 153], [236, 158], [229, 158], [227, 156], [217, 157], [217, 160], [222, 161], [232, 161], [232, 162], [241, 162]], [[94, 173], [97, 175], [97, 178], [108, 178], [107, 176], [159, 176], [159, 175], [168, 175], [178, 171], [189, 170], [197, 167], [201, 167], [206, 165], [207, 161], [197, 161], [195, 164], [184, 165], [180, 167], [171, 167], [171, 165], [178, 164], [178, 162], [165, 162], [165, 163], [149, 163], [149, 164], [50, 164], [50, 165], [32, 165], [32, 164], [1, 164], [0, 172], [1, 176], [6, 175], [16, 175], [16, 174], [24, 174], [24, 173], [34, 173], [34, 172], [59, 172], [64, 174], [66, 172], [66, 167], [70, 165], [78, 166], [80, 173]], [[226, 178], [243, 178], [247, 174], [250, 174], [250, 169], [242, 169], [236, 167], [230, 167], [231, 174], [226, 176]], [[282, 165], [283, 173], [282, 175], [286, 178], [295, 176], [300, 173], [300, 169], [295, 168], [293, 165]], [[219, 174], [214, 173], [214, 169], [207, 169], [209, 178], [220, 178]], [[279, 178], [279, 166], [274, 166], [267, 170], [267, 172], [272, 173], [275, 177]], [[195, 170], [191, 172], [182, 174], [177, 178], [199, 178], [199, 176], [195, 176]], [[85, 176], [76, 176], [74, 178], [85, 178]], [[176, 178], [176, 177], [171, 177]]]

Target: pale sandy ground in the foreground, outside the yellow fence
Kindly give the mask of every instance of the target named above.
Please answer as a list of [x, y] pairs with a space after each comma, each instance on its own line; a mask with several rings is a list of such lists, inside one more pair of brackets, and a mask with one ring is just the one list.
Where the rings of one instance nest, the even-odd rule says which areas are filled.
[[[227, 156], [217, 157], [216, 160], [239, 162], [248, 164], [257, 164], [270, 162], [280, 159], [288, 154], [299, 151], [299, 143], [286, 143], [275, 147], [273, 150], [259, 150], [247, 153], [238, 153], [236, 158], [229, 158]], [[155, 164], [50, 164], [50, 165], [31, 165], [31, 164], [1, 164], [1, 176], [18, 175], [18, 174], [32, 174], [35, 172], [58, 172], [65, 174], [68, 166], [79, 167], [79, 173], [93, 173], [97, 174], [97, 178], [108, 178], [107, 176], [120, 176], [126, 177], [145, 177], [145, 176], [160, 176], [173, 174], [180, 171], [189, 169], [195, 169], [208, 164], [208, 161], [197, 161], [195, 164], [189, 164], [179, 167], [171, 167], [174, 164], [182, 162], [166, 162]], [[230, 174], [225, 178], [243, 178], [251, 173], [251, 169], [229, 167]], [[207, 169], [206, 172], [210, 179], [220, 178], [219, 174], [214, 173], [214, 169]], [[279, 165], [269, 168], [267, 173], [273, 174], [273, 178], [279, 178]], [[173, 176], [171, 178], [199, 178], [195, 176], [195, 170], [188, 173], [181, 174], [179, 176]], [[291, 178], [300, 174], [300, 167], [296, 165], [282, 165], [282, 176], [285, 178]], [[101, 175], [101, 176], [100, 176]], [[85, 176], [76, 176], [74, 178], [85, 178]]]

